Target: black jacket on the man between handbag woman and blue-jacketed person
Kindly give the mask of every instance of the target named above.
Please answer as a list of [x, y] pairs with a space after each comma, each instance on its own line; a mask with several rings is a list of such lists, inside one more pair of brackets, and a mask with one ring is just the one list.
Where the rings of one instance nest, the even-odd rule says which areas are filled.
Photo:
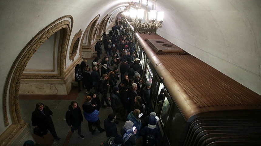
[[79, 127], [83, 121], [82, 111], [79, 106], [77, 106], [76, 109], [73, 109], [72, 105], [69, 105], [65, 119], [69, 126], [73, 125], [75, 127]]

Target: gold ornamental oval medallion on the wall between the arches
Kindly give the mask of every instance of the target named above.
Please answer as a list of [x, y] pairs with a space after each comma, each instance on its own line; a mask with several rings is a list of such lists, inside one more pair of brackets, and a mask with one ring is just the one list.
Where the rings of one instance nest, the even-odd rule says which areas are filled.
[[82, 33], [83, 33], [83, 31], [82, 31], [82, 29], [80, 29], [79, 32], [77, 32], [73, 37], [72, 44], [70, 47], [70, 53], [69, 53], [69, 59], [72, 61], [74, 61], [74, 57], [76, 56], [76, 52], [79, 47], [79, 42], [80, 42]]

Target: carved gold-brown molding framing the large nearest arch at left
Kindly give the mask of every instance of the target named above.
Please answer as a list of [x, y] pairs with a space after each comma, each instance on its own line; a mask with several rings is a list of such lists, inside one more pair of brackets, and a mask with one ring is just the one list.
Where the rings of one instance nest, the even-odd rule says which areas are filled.
[[[66, 19], [70, 19], [70, 21]], [[63, 20], [64, 19], [64, 20]], [[9, 125], [9, 119], [7, 115], [7, 98], [9, 98], [9, 110], [11, 114], [12, 125], [10, 125], [6, 130], [5, 134], [0, 136], [0, 144], [7, 145], [8, 142], [17, 134], [20, 128], [25, 126], [25, 122], [22, 120], [20, 107], [19, 107], [19, 86], [20, 80], [22, 78], [22, 73], [25, 70], [26, 64], [36, 52], [36, 50], [41, 46], [41, 44], [48, 39], [49, 36], [53, 35], [59, 30], [62, 30], [63, 38], [60, 39], [62, 53], [59, 54], [61, 62], [58, 72], [60, 73], [60, 78], [63, 79], [65, 60], [68, 40], [70, 37], [70, 32], [72, 30], [73, 17], [71, 15], [66, 15], [61, 18], [56, 19], [51, 24], [39, 31], [22, 49], [19, 55], [16, 57], [11, 69], [9, 70], [7, 79], [5, 81], [5, 89], [3, 93], [3, 115], [5, 126]], [[61, 35], [62, 36], [62, 35]]]

